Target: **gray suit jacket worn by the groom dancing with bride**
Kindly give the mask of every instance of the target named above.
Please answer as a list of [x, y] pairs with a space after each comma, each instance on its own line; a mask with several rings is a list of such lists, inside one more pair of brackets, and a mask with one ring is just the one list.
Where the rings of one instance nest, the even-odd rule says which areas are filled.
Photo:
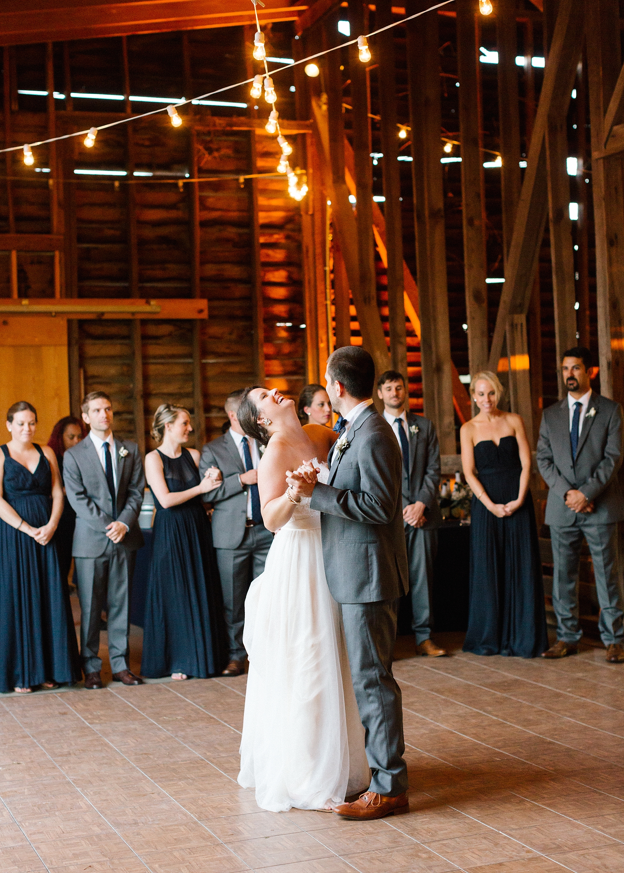
[[347, 440], [329, 453], [328, 484], [315, 485], [310, 504], [322, 513], [329, 591], [338, 603], [393, 600], [409, 588], [399, 443], [373, 407], [357, 416]]

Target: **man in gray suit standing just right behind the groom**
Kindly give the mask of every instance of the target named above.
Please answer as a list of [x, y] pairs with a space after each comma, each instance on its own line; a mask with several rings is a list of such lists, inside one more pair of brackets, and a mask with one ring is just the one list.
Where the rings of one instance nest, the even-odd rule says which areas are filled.
[[438, 551], [438, 527], [442, 515], [438, 504], [440, 445], [433, 423], [406, 409], [406, 383], [397, 370], [386, 370], [377, 382], [384, 402], [385, 420], [397, 437], [403, 457], [403, 523], [406, 530], [407, 563], [412, 595], [412, 629], [416, 654], [440, 657], [447, 654], [431, 639], [433, 627], [433, 561]]

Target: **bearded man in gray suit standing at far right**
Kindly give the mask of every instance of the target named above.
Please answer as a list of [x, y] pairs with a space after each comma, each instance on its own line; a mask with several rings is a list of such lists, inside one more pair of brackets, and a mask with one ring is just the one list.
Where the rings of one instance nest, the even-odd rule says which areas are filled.
[[564, 354], [568, 394], [544, 411], [537, 443], [537, 467], [549, 487], [546, 524], [551, 527], [552, 605], [557, 643], [542, 657], [579, 650], [579, 556], [583, 537], [592, 554], [600, 603], [598, 627], [609, 663], [624, 663], [618, 521], [624, 520], [618, 471], [622, 463], [622, 409], [596, 394], [589, 349]]

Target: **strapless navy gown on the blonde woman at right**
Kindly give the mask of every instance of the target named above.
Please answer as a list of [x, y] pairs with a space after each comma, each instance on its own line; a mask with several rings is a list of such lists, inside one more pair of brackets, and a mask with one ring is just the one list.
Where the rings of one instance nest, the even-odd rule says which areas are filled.
[[[517, 499], [522, 465], [515, 436], [475, 445], [479, 481], [494, 503]], [[533, 498], [498, 519], [475, 497], [470, 526], [470, 606], [463, 650], [537, 657], [548, 649]]]

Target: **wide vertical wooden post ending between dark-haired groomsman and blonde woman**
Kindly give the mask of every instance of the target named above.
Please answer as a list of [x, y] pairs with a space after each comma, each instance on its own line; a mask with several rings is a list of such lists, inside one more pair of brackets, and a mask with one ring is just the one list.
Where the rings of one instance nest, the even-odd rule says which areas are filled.
[[[415, 4], [408, 3], [407, 9], [416, 11]], [[406, 31], [425, 415], [435, 424], [442, 454], [454, 455], [457, 448], [448, 329], [444, 188], [440, 164], [438, 16], [417, 18], [406, 25]]]

